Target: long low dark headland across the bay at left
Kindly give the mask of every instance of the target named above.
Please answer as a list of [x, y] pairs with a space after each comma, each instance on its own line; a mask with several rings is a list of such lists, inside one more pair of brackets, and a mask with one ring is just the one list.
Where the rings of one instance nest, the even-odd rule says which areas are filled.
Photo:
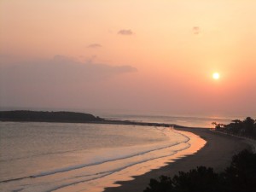
[[102, 121], [89, 113], [42, 112], [42, 111], [0, 111], [0, 120], [44, 121], [44, 122], [92, 122]]

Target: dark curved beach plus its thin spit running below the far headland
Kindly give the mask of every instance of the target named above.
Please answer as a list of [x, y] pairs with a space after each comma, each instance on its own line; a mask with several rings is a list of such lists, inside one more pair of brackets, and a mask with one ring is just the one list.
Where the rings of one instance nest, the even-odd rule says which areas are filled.
[[[5, 121], [0, 119], [1, 121]], [[7, 120], [12, 122], [49, 122], [49, 121], [34, 121], [30, 120]], [[148, 126], [161, 126], [161, 127], [174, 127], [176, 131], [188, 131], [198, 137], [207, 141], [207, 144], [197, 151], [195, 154], [182, 154], [177, 155], [175, 158], [166, 159], [165, 163], [150, 172], [137, 174], [138, 176], [129, 177], [129, 179], [121, 182], [116, 182], [110, 185], [104, 185], [104, 192], [130, 192], [137, 191], [143, 192], [148, 186], [150, 178], [159, 178], [161, 175], [169, 177], [174, 176], [177, 172], [188, 172], [196, 166], [212, 167], [216, 172], [224, 170], [226, 166], [230, 165], [231, 157], [239, 153], [244, 148], [252, 148], [255, 142], [247, 141], [244, 138], [233, 137], [231, 135], [221, 134], [218, 132], [210, 131], [206, 128], [184, 127], [182, 125], [161, 124], [161, 123], [147, 123], [137, 122], [130, 120], [109, 120], [103, 121], [90, 121], [90, 122], [63, 122], [54, 121], [51, 123], [89, 123], [89, 124], [111, 124], [111, 125], [148, 125]], [[190, 148], [193, 148], [191, 145]], [[108, 187], [106, 187], [108, 186]], [[82, 190], [83, 191], [83, 190]], [[102, 190], [101, 190], [102, 191]]]

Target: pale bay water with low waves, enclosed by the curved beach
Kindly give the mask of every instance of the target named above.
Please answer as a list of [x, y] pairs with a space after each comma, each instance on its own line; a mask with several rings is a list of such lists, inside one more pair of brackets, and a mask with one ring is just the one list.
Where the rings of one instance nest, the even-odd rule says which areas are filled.
[[102, 191], [164, 166], [191, 138], [170, 127], [0, 122], [0, 190]]

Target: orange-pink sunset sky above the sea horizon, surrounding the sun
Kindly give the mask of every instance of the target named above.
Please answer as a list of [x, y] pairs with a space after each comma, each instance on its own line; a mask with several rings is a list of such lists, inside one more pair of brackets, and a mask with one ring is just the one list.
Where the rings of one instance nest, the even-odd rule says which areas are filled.
[[0, 108], [256, 115], [255, 10], [255, 0], [1, 0]]

